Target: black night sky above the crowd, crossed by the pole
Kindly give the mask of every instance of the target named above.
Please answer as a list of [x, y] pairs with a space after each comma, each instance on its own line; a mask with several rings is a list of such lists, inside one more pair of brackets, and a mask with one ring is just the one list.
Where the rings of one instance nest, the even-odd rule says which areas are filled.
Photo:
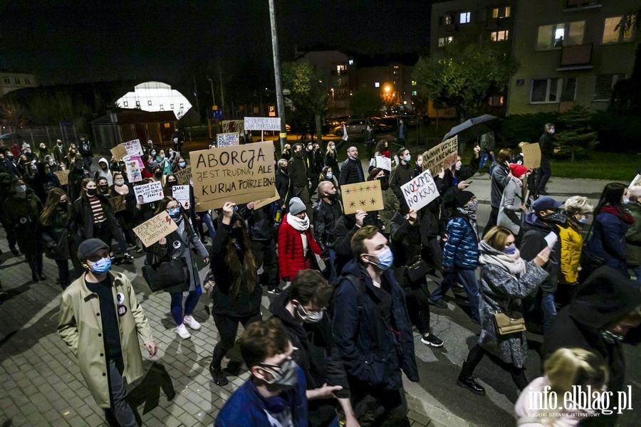
[[[276, 0], [281, 60], [314, 46], [425, 51], [432, 0]], [[0, 68], [41, 83], [149, 76], [177, 82], [221, 58], [225, 72], [271, 75], [268, 0], [0, 0]], [[273, 80], [273, 78], [271, 78]]]

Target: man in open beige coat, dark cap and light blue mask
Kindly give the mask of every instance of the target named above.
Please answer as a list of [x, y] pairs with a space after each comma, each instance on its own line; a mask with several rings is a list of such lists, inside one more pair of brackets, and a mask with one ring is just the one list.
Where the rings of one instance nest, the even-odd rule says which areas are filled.
[[132, 383], [145, 374], [139, 338], [149, 357], [157, 352], [149, 321], [130, 280], [111, 270], [109, 247], [103, 241], [83, 241], [77, 256], [85, 272], [63, 292], [58, 334], [77, 358], [107, 423], [137, 426], [124, 380]]

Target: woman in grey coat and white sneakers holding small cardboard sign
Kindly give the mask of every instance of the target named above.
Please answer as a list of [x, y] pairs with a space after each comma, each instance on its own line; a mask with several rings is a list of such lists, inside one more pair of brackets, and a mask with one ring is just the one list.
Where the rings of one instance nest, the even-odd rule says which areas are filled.
[[[162, 263], [165, 260], [172, 260], [174, 258], [182, 260], [184, 277], [186, 280], [183, 283], [175, 283], [170, 288], [165, 288], [165, 292], [171, 295], [171, 313], [176, 322], [176, 333], [182, 339], [187, 339], [192, 335], [187, 330], [190, 329], [197, 331], [201, 328], [200, 323], [194, 319], [193, 313], [200, 295], [202, 295], [202, 280], [199, 275], [196, 259], [192, 255], [192, 248], [198, 253], [205, 264], [209, 263], [209, 254], [207, 249], [198, 238], [197, 233], [189, 223], [189, 217], [184, 213], [179, 202], [173, 197], [163, 197], [158, 202], [158, 207], [155, 215], [166, 213], [169, 215], [174, 223], [177, 224], [178, 229], [172, 231], [166, 237], [163, 237], [157, 243], [147, 248], [147, 261], [150, 265]], [[187, 300], [184, 302], [184, 310], [182, 306], [182, 293], [189, 292]]]

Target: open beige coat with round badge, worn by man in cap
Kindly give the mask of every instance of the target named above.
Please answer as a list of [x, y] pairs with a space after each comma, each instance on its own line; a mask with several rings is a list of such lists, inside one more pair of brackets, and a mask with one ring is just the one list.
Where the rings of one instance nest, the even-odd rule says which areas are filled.
[[[100, 302], [98, 295], [85, 285], [85, 274], [83, 273], [63, 292], [58, 334], [71, 348], [75, 357], [78, 357], [80, 372], [95, 402], [102, 408], [109, 408], [108, 366], [103, 341], [103, 322], [99, 316]], [[118, 316], [118, 327], [125, 364], [123, 376], [131, 383], [144, 374], [138, 337], [145, 344], [152, 342], [152, 331], [129, 279], [122, 273], [109, 274], [113, 278], [114, 310], [117, 310], [118, 293], [124, 295], [121, 305], [127, 307], [127, 312]]]

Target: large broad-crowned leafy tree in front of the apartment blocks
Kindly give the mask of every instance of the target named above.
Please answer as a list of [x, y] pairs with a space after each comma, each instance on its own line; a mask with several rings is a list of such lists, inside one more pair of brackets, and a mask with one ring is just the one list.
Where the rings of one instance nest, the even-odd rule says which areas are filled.
[[479, 112], [481, 103], [504, 90], [518, 62], [502, 43], [450, 43], [429, 58], [419, 58], [417, 90], [433, 102], [457, 109], [463, 122]]

